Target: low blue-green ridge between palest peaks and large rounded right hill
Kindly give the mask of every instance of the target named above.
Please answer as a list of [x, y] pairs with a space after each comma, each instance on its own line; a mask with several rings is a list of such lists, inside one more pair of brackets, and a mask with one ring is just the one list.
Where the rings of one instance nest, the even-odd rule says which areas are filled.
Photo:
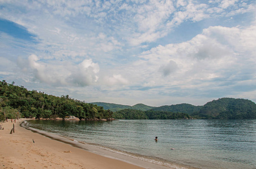
[[157, 108], [151, 109], [151, 111], [163, 111], [163, 112], [172, 112], [172, 113], [186, 113], [186, 114], [193, 114], [199, 112], [199, 110], [203, 106], [195, 106], [191, 104], [176, 104], [176, 105], [164, 105]]

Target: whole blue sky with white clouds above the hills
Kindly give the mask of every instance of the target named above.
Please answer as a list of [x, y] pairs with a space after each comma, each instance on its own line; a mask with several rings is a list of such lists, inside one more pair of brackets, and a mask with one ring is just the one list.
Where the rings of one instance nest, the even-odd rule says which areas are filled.
[[0, 80], [123, 105], [256, 101], [256, 2], [0, 0]]

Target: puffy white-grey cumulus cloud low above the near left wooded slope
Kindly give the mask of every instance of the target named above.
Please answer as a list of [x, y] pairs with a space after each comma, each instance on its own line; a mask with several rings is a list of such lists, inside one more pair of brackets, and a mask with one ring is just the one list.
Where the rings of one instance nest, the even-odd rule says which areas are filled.
[[54, 61], [43, 63], [36, 55], [30, 55], [25, 60], [18, 60], [18, 65], [25, 73], [30, 72], [35, 81], [44, 82], [54, 86], [88, 86], [95, 83], [98, 79], [99, 65], [93, 63], [91, 59], [83, 60], [82, 63], [75, 65], [68, 61], [56, 63]]

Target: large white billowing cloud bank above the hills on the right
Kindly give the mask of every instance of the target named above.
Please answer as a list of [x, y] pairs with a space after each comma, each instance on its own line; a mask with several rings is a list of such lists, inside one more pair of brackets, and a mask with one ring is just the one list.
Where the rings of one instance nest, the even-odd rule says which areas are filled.
[[[154, 86], [191, 90], [199, 87], [207, 90], [223, 82], [236, 83], [234, 79], [243, 78], [241, 72], [247, 72], [246, 69], [255, 72], [252, 66], [256, 64], [255, 30], [254, 26], [247, 29], [212, 26], [190, 41], [152, 48], [134, 63], [133, 69], [139, 74], [134, 73], [133, 78], [145, 86], [153, 82]], [[255, 78], [253, 74], [248, 75]]]

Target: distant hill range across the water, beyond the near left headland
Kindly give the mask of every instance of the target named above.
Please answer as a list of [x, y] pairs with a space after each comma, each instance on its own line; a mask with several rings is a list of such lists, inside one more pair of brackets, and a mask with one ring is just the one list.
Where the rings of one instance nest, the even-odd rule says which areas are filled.
[[115, 112], [113, 117], [118, 119], [256, 118], [256, 104], [246, 99], [221, 98], [212, 100], [203, 106], [195, 106], [186, 103], [159, 107], [144, 104], [129, 106], [102, 102], [91, 104], [112, 110]]

